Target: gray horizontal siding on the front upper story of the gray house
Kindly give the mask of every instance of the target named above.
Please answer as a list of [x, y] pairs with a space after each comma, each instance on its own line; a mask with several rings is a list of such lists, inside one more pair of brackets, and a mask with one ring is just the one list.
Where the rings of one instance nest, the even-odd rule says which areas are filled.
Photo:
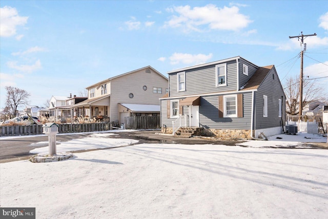
[[170, 97], [236, 91], [236, 60], [227, 62], [227, 86], [216, 86], [215, 64], [185, 71], [186, 91], [177, 92], [177, 73], [169, 74]]

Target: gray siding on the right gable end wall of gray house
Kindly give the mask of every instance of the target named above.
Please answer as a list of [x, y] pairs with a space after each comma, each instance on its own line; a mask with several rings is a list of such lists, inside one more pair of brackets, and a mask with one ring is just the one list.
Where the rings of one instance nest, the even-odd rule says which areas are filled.
[[[273, 79], [272, 74], [275, 75]], [[268, 117], [263, 117], [263, 95], [268, 96]], [[278, 99], [282, 99], [282, 117], [279, 117], [279, 103]], [[272, 70], [267, 78], [264, 79], [256, 92], [256, 104], [255, 104], [255, 129], [271, 128], [281, 126], [284, 124], [285, 115], [285, 95], [283, 93], [278, 75]], [[281, 118], [283, 121], [281, 122]]]

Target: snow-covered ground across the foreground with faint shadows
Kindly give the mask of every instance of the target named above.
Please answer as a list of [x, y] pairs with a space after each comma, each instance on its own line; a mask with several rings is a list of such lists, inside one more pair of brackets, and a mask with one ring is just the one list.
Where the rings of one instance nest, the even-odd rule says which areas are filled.
[[[326, 142], [322, 136], [281, 135], [226, 146], [135, 144], [111, 135], [62, 142], [57, 151], [112, 147], [74, 153], [69, 160], [0, 164], [1, 207], [35, 207], [36, 218], [326, 218], [328, 214], [328, 150], [289, 148]], [[117, 147], [124, 145], [129, 146]], [[43, 153], [45, 148], [32, 151]]]

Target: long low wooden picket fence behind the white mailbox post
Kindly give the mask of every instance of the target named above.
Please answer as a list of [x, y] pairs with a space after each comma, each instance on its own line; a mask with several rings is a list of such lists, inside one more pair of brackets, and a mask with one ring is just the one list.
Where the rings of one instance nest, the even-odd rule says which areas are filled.
[[[110, 122], [84, 123], [84, 124], [58, 124], [58, 133], [83, 133], [111, 130]], [[2, 136], [25, 136], [43, 134], [42, 125], [11, 125], [0, 126]]]

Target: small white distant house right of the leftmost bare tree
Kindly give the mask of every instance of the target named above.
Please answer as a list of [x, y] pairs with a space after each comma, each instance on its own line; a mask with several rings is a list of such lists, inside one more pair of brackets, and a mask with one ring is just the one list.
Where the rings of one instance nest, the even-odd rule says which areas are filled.
[[66, 106], [66, 100], [69, 97], [52, 96], [49, 104], [49, 117], [69, 117], [71, 114], [71, 107]]

